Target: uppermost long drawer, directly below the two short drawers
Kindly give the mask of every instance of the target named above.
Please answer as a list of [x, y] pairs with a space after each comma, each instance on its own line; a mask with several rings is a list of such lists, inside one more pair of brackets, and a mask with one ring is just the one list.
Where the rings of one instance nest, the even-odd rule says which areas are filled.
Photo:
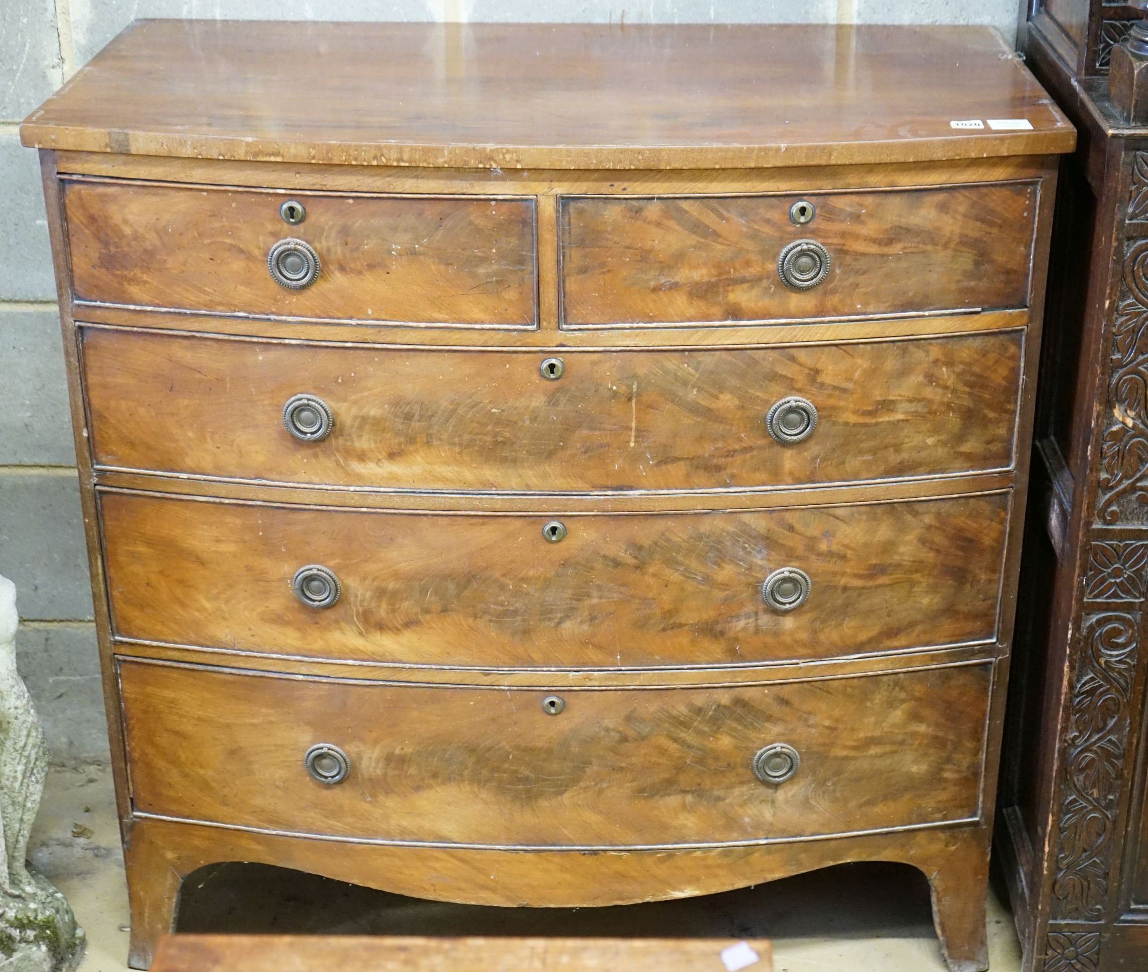
[[[1010, 331], [817, 347], [561, 351], [557, 380], [543, 376], [552, 353], [544, 351], [300, 345], [91, 327], [83, 344], [102, 467], [564, 492], [1009, 468], [1024, 339]], [[301, 395], [320, 404], [285, 423], [285, 407]], [[786, 441], [775, 406], [794, 397], [816, 418], [799, 429], [807, 437]], [[320, 407], [329, 413], [327, 434], [301, 438]]]

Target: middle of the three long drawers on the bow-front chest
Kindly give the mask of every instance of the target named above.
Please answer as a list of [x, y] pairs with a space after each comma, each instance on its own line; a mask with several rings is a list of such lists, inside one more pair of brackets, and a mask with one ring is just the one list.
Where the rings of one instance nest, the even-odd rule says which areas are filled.
[[[548, 516], [103, 492], [101, 510], [121, 638], [386, 663], [621, 668], [992, 640], [1009, 503], [993, 493]], [[313, 597], [295, 592], [296, 576], [311, 578]], [[338, 600], [317, 604], [336, 583]]]

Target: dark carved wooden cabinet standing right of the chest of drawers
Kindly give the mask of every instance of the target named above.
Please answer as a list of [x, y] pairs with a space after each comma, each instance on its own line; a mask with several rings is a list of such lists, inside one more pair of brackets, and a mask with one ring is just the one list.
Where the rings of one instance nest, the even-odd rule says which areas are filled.
[[1023, 14], [1027, 62], [1080, 143], [1056, 207], [998, 849], [1026, 972], [1133, 972], [1148, 969], [1148, 24], [1101, 0]]

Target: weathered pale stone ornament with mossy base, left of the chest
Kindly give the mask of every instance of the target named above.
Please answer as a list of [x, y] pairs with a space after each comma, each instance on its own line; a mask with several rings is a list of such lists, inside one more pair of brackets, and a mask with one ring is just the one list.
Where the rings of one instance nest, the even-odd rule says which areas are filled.
[[24, 863], [48, 751], [16, 674], [17, 623], [16, 585], [0, 576], [0, 972], [71, 972], [84, 930], [64, 896]]

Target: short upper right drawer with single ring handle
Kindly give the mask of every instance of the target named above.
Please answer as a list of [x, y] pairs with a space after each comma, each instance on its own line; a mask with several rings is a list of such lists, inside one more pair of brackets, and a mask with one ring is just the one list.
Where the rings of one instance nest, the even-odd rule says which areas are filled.
[[[567, 197], [563, 326], [1021, 308], [1029, 302], [1037, 192], [1033, 182], [996, 182], [805, 196]], [[797, 225], [791, 212], [802, 204], [812, 218]], [[797, 286], [789, 286], [781, 261], [802, 241], [804, 257], [790, 251]]]

